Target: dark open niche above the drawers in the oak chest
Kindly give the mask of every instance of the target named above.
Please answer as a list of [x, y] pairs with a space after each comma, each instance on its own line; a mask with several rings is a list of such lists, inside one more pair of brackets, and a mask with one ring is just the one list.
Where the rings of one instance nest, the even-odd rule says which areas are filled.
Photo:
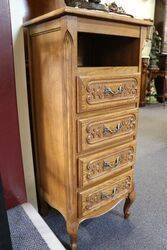
[[78, 67], [139, 65], [140, 39], [78, 32]]

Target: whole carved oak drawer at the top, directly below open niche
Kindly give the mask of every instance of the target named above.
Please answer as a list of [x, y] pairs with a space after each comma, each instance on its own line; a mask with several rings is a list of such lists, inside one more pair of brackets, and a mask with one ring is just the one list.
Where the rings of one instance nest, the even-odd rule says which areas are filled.
[[137, 101], [139, 77], [112, 78], [79, 76], [77, 112], [118, 107]]

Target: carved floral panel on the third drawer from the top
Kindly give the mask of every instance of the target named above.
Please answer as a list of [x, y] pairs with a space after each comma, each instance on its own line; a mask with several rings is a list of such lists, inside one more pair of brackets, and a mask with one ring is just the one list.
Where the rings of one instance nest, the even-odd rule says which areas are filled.
[[87, 166], [87, 179], [91, 180], [103, 175], [105, 172], [113, 171], [123, 164], [134, 160], [134, 148], [130, 147], [115, 155], [110, 155], [104, 159], [92, 161]]

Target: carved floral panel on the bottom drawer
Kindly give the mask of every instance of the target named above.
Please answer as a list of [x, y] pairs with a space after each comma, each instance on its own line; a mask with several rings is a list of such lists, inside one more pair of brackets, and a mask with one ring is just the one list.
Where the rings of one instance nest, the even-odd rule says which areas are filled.
[[103, 201], [110, 201], [116, 199], [123, 192], [128, 192], [131, 188], [131, 184], [132, 178], [128, 176], [125, 180], [113, 186], [109, 191], [99, 191], [88, 195], [86, 197], [84, 210], [90, 210]]

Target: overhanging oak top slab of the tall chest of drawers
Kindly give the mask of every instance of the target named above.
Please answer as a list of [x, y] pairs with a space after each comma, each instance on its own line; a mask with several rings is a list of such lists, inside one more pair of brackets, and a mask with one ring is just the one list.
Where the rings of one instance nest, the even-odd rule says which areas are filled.
[[87, 9], [79, 9], [74, 7], [64, 7], [54, 11], [51, 11], [47, 14], [42, 16], [36, 17], [24, 23], [24, 26], [30, 26], [38, 23], [43, 23], [48, 20], [53, 20], [61, 16], [77, 16], [77, 17], [87, 17], [87, 18], [94, 18], [94, 19], [101, 19], [106, 21], [114, 21], [114, 22], [121, 22], [121, 23], [129, 23], [133, 25], [139, 26], [152, 26], [153, 23], [151, 21], [143, 20], [143, 19], [136, 19], [129, 16], [119, 15], [115, 13], [106, 13], [97, 10], [87, 10]]

